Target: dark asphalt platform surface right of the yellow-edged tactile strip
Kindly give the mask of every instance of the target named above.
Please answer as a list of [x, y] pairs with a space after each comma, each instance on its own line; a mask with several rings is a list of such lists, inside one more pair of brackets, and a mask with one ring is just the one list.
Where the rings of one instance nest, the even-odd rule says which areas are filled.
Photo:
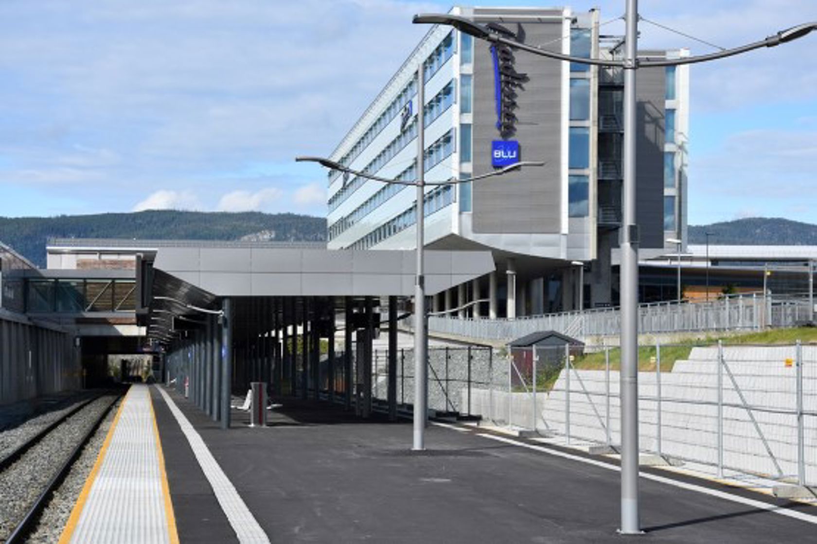
[[[808, 542], [817, 531], [814, 506], [645, 470], [646, 534], [621, 537], [620, 475], [609, 460], [439, 426], [427, 433], [429, 451], [413, 453], [408, 422], [362, 422], [288, 399], [269, 428], [249, 428], [246, 414], [235, 413], [234, 428], [221, 431], [188, 400], [169, 396], [273, 542], [746, 544]], [[170, 409], [157, 403], [156, 414], [173, 503], [183, 505], [183, 496], [197, 505], [184, 513], [177, 506], [182, 540], [236, 542]]]

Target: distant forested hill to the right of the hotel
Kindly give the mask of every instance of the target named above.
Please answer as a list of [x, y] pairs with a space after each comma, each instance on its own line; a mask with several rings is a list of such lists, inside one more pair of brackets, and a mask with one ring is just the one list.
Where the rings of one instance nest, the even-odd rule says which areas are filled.
[[752, 217], [711, 225], [690, 225], [690, 244], [817, 245], [817, 225], [789, 219]]

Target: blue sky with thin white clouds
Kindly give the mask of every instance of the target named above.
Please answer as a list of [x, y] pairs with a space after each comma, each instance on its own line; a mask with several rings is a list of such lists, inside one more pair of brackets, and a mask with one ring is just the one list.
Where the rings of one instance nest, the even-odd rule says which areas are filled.
[[[727, 47], [817, 20], [814, 0], [640, 3], [646, 19]], [[603, 21], [624, 9], [623, 0], [570, 5], [600, 7]], [[166, 207], [324, 215], [324, 172], [292, 157], [330, 153], [426, 32], [411, 16], [449, 7], [2, 2], [0, 215]], [[712, 51], [646, 23], [641, 45]], [[815, 48], [817, 33], [691, 69], [690, 223], [815, 222]]]

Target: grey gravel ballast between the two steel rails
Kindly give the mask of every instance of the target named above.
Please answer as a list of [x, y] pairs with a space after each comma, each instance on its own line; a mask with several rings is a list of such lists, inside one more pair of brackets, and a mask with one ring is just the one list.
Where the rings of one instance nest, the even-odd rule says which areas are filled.
[[[16, 524], [23, 519], [33, 502], [37, 500], [48, 482], [73, 452], [78, 441], [96, 423], [100, 414], [109, 407], [112, 400], [114, 396], [102, 396], [94, 400], [78, 414], [74, 414], [62, 423], [60, 427], [51, 431], [48, 436], [0, 474], [0, 542], [4, 542]], [[96, 434], [99, 435], [99, 433]], [[101, 442], [95, 451], [98, 452], [100, 446]], [[93, 458], [96, 459], [96, 453], [93, 454]], [[93, 466], [93, 461], [91, 466]], [[82, 484], [79, 484], [79, 489], [82, 489]], [[68, 514], [70, 514], [70, 507]], [[52, 527], [52, 530], [56, 533], [56, 537], [51, 533], [51, 537], [42, 542], [56, 542], [62, 525]]]

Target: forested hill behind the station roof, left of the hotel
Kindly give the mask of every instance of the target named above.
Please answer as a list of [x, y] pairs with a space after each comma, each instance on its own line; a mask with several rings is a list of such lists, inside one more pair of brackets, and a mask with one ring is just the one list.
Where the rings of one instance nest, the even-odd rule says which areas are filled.
[[0, 217], [0, 241], [46, 264], [48, 238], [324, 241], [326, 219], [261, 212], [148, 210], [127, 214]]

